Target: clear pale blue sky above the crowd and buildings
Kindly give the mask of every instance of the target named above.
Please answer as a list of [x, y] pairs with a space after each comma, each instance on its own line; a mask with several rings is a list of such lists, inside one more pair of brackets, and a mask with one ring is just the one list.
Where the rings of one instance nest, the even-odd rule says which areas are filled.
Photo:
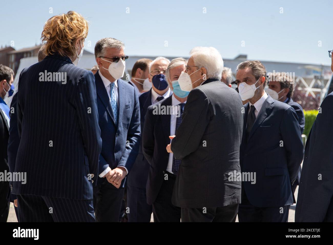
[[114, 37], [125, 43], [128, 55], [188, 56], [195, 46], [213, 46], [223, 58], [247, 54], [249, 59], [330, 64], [332, 7], [332, 0], [1, 0], [0, 45], [14, 41], [20, 49], [40, 43], [47, 19], [74, 10], [90, 22], [85, 48], [92, 52], [97, 40]]

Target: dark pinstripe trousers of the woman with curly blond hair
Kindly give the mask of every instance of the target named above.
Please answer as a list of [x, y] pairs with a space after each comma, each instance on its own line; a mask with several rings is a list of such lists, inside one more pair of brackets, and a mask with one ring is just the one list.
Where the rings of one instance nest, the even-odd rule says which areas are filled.
[[95, 222], [93, 200], [17, 195], [19, 222]]

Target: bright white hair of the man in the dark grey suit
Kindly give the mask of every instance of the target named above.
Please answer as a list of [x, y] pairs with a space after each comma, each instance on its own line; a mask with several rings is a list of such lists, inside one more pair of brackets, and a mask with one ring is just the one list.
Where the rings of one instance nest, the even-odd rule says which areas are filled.
[[206, 77], [221, 80], [223, 60], [220, 52], [213, 47], [195, 47], [190, 51], [194, 65], [207, 70]]

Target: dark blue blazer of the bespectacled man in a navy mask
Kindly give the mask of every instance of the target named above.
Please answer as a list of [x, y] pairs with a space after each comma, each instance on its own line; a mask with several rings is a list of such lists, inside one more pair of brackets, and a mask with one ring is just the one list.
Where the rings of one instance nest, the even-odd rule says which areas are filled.
[[[142, 93], [139, 96], [139, 103], [140, 103], [140, 123], [141, 123], [141, 132], [142, 132], [145, 123], [145, 115], [147, 109], [150, 105], [152, 105], [152, 89], [150, 89], [145, 93]], [[139, 188], [146, 188], [149, 167], [150, 165], [142, 152], [142, 142], [141, 142], [139, 148], [139, 154], [133, 165], [132, 172], [128, 176], [127, 184]]]

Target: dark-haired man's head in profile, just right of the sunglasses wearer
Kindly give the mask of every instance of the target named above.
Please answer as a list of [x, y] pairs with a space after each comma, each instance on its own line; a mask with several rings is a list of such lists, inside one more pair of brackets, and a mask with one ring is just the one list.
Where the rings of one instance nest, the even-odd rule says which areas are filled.
[[144, 88], [144, 81], [147, 80], [149, 74], [149, 65], [152, 63], [153, 60], [151, 59], [139, 59], [134, 63], [132, 68], [132, 79], [129, 81], [139, 93], [143, 93]]

